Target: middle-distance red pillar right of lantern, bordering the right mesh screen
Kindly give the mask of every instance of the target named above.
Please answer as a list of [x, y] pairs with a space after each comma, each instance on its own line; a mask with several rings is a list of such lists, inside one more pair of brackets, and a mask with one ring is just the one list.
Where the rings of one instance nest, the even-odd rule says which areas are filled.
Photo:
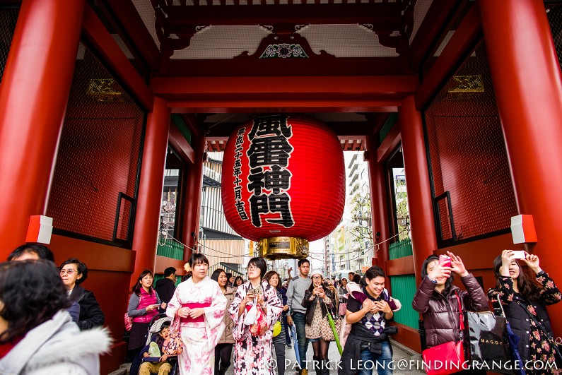
[[402, 155], [406, 174], [406, 191], [410, 215], [411, 243], [414, 249], [416, 282], [420, 282], [423, 261], [437, 249], [433, 203], [429, 184], [426, 144], [423, 138], [421, 114], [416, 110], [414, 97], [406, 97], [398, 110]]

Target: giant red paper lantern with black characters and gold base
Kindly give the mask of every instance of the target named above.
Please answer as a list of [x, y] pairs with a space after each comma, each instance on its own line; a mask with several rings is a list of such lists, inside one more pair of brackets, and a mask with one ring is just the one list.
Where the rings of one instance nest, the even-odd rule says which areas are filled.
[[315, 119], [259, 117], [235, 129], [223, 157], [223, 208], [266, 258], [308, 256], [308, 242], [334, 230], [344, 213], [344, 153]]

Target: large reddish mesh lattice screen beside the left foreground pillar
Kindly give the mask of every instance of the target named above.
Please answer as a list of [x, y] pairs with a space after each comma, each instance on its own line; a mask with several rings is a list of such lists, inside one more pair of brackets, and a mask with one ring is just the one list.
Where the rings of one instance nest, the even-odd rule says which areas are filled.
[[47, 209], [62, 234], [130, 245], [145, 118], [81, 44]]

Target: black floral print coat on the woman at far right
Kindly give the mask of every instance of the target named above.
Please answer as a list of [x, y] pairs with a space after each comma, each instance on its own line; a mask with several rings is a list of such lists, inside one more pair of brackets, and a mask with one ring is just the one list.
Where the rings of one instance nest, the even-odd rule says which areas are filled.
[[[539, 302], [529, 301], [522, 294], [516, 293], [513, 290], [513, 279], [503, 276], [498, 280], [499, 287], [497, 289], [488, 290], [488, 299], [493, 304], [496, 314], [501, 314], [498, 302], [502, 304], [505, 317], [508, 319], [513, 332], [520, 338], [519, 352], [523, 362], [528, 360], [541, 361], [543, 363], [555, 362], [554, 343], [549, 340], [546, 333], [532, 319], [529, 319], [529, 314], [527, 314], [525, 309], [537, 321], [540, 321], [552, 335], [549, 315], [546, 312], [545, 305], [560, 302], [562, 294], [554, 284], [554, 280], [549, 278], [549, 275], [544, 271], [537, 274], [537, 282], [542, 285]], [[527, 369], [526, 373], [562, 374], [562, 369]]]

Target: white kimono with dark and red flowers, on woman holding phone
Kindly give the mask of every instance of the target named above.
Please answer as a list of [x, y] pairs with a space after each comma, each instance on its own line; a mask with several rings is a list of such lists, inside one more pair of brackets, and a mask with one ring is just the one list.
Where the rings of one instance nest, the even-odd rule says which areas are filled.
[[[230, 304], [228, 313], [233, 319], [235, 327], [233, 329], [233, 337], [236, 340], [234, 347], [234, 373], [236, 375], [264, 375], [276, 374], [275, 362], [272, 361], [271, 355], [271, 339], [273, 338], [273, 328], [275, 322], [279, 319], [283, 304], [277, 297], [274, 287], [271, 287], [267, 281], [262, 282], [264, 290], [264, 301], [267, 304], [267, 324], [269, 329], [260, 336], [254, 336], [250, 333], [250, 326], [245, 326], [244, 319], [247, 309], [240, 317], [238, 317], [238, 307], [242, 303], [242, 299], [246, 297], [246, 292], [250, 288], [250, 281], [238, 287], [233, 303]], [[280, 364], [284, 366], [285, 364]]]

